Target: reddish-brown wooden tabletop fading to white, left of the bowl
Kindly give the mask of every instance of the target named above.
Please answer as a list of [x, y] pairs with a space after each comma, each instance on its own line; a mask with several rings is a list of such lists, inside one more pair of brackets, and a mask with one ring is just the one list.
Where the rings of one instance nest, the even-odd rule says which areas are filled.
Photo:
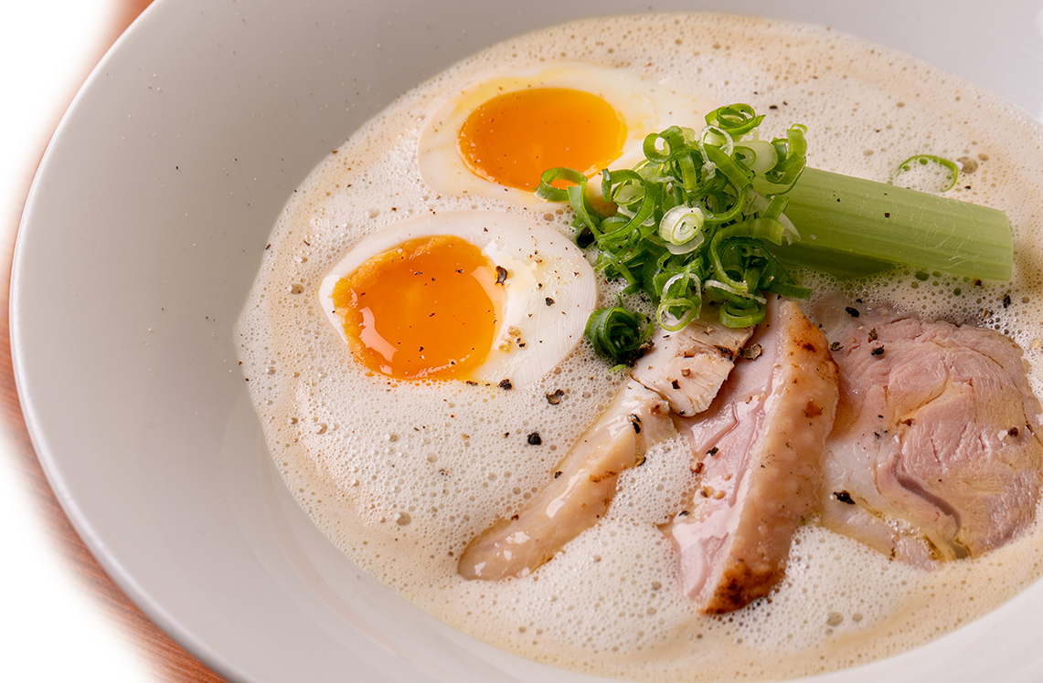
[[0, 0], [0, 681], [220, 683], [135, 607], [73, 531], [37, 460], [7, 295], [29, 184], [62, 115], [149, 0]]

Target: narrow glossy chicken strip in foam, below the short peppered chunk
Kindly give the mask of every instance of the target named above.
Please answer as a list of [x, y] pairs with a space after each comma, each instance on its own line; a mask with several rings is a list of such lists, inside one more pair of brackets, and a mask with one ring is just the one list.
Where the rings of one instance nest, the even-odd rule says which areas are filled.
[[529, 575], [597, 523], [615, 496], [621, 472], [676, 434], [666, 402], [630, 381], [558, 464], [551, 483], [517, 514], [470, 541], [458, 572], [486, 581]]

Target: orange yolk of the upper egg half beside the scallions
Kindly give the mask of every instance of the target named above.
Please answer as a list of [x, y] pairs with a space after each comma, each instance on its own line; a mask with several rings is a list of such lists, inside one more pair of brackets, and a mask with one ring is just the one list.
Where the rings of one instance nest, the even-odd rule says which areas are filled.
[[536, 87], [506, 93], [467, 117], [457, 146], [471, 173], [535, 189], [548, 169], [590, 177], [623, 153], [627, 126], [608, 102], [582, 91]]

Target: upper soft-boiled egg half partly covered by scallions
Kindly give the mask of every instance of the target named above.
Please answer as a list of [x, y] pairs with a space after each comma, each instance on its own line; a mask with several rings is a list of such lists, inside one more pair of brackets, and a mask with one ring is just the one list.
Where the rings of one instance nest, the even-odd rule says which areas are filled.
[[587, 177], [645, 158], [649, 133], [701, 127], [713, 104], [625, 69], [555, 61], [465, 87], [428, 117], [420, 175], [442, 194], [535, 205], [540, 174], [568, 167]]

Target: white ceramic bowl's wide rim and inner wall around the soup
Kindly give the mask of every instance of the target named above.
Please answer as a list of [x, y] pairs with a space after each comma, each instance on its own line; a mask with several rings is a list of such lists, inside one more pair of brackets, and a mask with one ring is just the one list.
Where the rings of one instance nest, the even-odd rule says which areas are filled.
[[[351, 565], [275, 472], [232, 327], [283, 203], [396, 95], [584, 16], [717, 9], [830, 25], [1043, 111], [1040, 2], [159, 0], [54, 135], [11, 286], [33, 444], [98, 559], [233, 681], [591, 681], [422, 613]], [[1043, 680], [1043, 585], [914, 652], [816, 679]]]

